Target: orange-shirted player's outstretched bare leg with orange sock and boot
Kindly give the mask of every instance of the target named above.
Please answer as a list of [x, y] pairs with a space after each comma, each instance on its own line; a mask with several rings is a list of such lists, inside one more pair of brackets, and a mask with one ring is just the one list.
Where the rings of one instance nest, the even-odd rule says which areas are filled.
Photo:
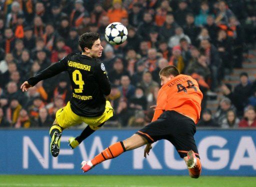
[[83, 172], [87, 172], [88, 170], [93, 168], [95, 165], [101, 163], [102, 161], [112, 159], [126, 150], [132, 150], [147, 143], [148, 142], [144, 137], [138, 134], [134, 134], [131, 137], [125, 139], [124, 141], [118, 141], [110, 145], [91, 160], [82, 161], [81, 169], [83, 170]]

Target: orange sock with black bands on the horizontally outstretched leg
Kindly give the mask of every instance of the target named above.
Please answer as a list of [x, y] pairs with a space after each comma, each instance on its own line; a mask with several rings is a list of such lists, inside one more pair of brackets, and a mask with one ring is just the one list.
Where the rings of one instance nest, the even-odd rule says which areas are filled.
[[98, 155], [96, 155], [94, 158], [92, 158], [91, 163], [92, 165], [96, 165], [101, 163], [102, 161], [105, 161], [107, 159], [112, 159], [121, 153], [125, 151], [124, 145], [122, 141], [118, 141], [109, 147], [107, 147], [105, 150], [100, 152]]

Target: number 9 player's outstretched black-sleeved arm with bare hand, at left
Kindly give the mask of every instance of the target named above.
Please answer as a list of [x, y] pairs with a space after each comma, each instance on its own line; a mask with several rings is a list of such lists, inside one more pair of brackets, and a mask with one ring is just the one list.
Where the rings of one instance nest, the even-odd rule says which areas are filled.
[[48, 66], [46, 69], [40, 71], [38, 74], [36, 74], [33, 77], [28, 78], [27, 81], [24, 81], [22, 85], [20, 86], [20, 89], [22, 91], [27, 91], [29, 87], [34, 86], [37, 82], [50, 78], [64, 70], [66, 70], [66, 57], [61, 59], [60, 61]]

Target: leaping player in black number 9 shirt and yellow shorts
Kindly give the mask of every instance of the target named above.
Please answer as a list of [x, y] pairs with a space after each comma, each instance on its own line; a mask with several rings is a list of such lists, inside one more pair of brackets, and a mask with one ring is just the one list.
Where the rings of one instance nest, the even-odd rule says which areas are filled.
[[113, 116], [113, 108], [105, 95], [111, 87], [105, 72], [105, 67], [99, 57], [103, 47], [99, 34], [86, 32], [79, 37], [82, 52], [70, 53], [63, 59], [42, 70], [34, 77], [23, 82], [20, 88], [27, 91], [40, 80], [52, 77], [62, 71], [67, 71], [71, 84], [70, 101], [56, 112], [56, 118], [49, 130], [51, 136], [50, 152], [56, 157], [59, 153], [62, 130], [81, 122], [88, 126], [77, 137], [69, 138], [69, 145], [75, 148], [83, 139], [93, 133], [104, 122]]

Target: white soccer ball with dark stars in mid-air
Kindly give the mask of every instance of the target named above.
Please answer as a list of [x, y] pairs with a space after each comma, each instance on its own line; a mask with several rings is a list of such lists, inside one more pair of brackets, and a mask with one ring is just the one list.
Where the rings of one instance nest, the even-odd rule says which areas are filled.
[[119, 45], [127, 39], [127, 28], [120, 22], [112, 22], [105, 29], [105, 38], [112, 45]]

